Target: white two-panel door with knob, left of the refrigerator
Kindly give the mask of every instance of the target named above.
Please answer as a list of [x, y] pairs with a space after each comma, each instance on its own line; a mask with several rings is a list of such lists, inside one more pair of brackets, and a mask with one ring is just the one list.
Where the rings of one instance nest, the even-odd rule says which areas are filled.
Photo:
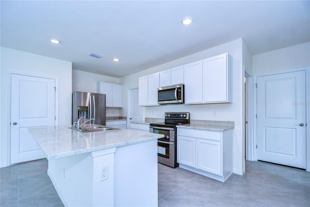
[[45, 157], [28, 127], [55, 125], [54, 87], [54, 79], [11, 75], [11, 164]]

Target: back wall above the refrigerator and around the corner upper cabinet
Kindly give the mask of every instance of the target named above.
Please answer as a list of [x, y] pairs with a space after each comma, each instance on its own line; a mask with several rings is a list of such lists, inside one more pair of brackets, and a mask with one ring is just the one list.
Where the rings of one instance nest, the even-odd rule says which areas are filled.
[[[98, 93], [97, 83], [99, 81], [108, 83], [119, 83], [119, 78], [114, 78], [81, 70], [72, 70], [72, 92], [92, 92]], [[119, 116], [119, 108], [107, 108], [106, 116]]]

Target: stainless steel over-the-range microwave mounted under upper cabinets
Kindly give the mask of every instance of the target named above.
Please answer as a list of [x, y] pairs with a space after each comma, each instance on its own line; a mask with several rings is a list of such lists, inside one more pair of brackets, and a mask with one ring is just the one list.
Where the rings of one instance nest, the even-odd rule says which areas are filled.
[[157, 93], [158, 104], [184, 104], [184, 84], [158, 88]]

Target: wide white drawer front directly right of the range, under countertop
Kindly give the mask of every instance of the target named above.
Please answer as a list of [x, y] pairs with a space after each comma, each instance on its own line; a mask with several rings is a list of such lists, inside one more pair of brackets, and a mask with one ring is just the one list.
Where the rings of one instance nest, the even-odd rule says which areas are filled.
[[186, 129], [178, 127], [178, 135], [187, 136], [187, 137], [196, 137], [201, 139], [210, 139], [215, 141], [221, 141], [222, 133], [221, 132], [212, 132], [201, 129]]

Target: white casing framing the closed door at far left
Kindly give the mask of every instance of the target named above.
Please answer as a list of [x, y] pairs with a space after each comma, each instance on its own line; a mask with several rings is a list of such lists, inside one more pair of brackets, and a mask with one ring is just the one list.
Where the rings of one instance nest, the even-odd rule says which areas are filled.
[[42, 76], [42, 75], [35, 75], [35, 74], [27, 74], [27, 73], [20, 73], [20, 72], [14, 72], [14, 71], [8, 71], [7, 72], [7, 110], [9, 111], [7, 116], [7, 164], [11, 165], [11, 75], [25, 75], [25, 76], [32, 76], [37, 78], [46, 78], [46, 79], [53, 79], [55, 80], [55, 126], [58, 125], [58, 77], [48, 77], [48, 76]]

